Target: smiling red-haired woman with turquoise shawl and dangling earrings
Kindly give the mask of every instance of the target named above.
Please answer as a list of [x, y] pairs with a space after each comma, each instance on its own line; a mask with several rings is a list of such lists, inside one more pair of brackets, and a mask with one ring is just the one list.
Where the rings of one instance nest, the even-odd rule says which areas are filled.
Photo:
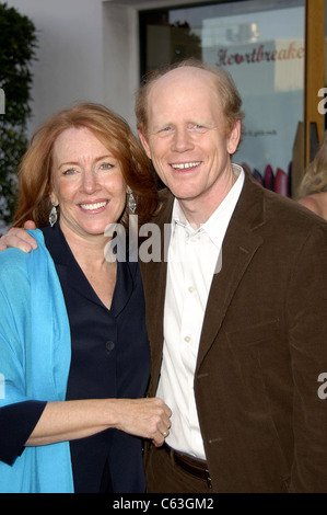
[[145, 490], [141, 438], [162, 445], [171, 411], [143, 398], [138, 264], [106, 261], [104, 236], [135, 204], [142, 222], [156, 191], [116, 114], [80, 104], [36, 133], [20, 165], [15, 226], [35, 221], [37, 250], [0, 254], [1, 492]]

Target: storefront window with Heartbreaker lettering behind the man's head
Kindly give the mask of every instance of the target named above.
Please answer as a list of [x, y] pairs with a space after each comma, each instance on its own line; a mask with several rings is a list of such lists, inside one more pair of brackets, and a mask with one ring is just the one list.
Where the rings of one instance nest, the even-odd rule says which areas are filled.
[[245, 133], [234, 161], [291, 195], [292, 148], [303, 121], [304, 0], [234, 1], [140, 13], [142, 75], [197, 57], [233, 77]]

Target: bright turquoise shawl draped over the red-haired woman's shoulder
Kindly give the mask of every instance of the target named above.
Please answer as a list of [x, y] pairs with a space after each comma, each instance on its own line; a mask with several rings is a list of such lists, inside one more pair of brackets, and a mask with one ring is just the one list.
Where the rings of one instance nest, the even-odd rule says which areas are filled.
[[[36, 251], [0, 253], [0, 408], [66, 398], [71, 357], [67, 310], [43, 233], [31, 233]], [[0, 461], [0, 492], [73, 492], [69, 443], [25, 447], [13, 465]]]

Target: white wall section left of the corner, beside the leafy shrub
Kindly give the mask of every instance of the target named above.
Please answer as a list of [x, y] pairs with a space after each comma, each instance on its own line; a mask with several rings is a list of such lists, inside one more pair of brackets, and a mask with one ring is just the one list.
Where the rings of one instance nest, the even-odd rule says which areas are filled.
[[8, 0], [8, 5], [38, 31], [28, 133], [72, 102], [103, 102], [102, 1]]

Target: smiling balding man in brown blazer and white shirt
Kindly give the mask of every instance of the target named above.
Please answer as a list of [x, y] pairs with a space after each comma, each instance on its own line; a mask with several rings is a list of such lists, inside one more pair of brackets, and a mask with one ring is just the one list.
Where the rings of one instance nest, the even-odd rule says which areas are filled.
[[222, 70], [153, 76], [137, 117], [167, 186], [162, 260], [141, 262], [149, 396], [173, 412], [148, 491], [326, 492], [326, 222], [231, 163], [243, 114]]

